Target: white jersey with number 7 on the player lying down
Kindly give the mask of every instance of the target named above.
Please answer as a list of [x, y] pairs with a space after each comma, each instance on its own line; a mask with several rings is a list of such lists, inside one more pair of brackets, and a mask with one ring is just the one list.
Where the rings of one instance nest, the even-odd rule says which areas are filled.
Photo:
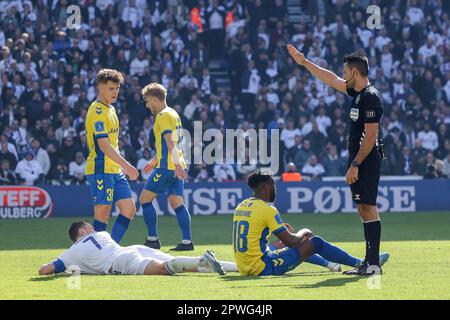
[[105, 274], [122, 249], [108, 232], [94, 232], [75, 242], [58, 259], [64, 263], [65, 270], [75, 266], [81, 273]]

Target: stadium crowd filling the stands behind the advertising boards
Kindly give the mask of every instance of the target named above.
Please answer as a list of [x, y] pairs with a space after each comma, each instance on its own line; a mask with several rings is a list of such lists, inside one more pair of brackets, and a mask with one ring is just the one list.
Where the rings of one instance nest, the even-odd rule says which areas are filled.
[[[140, 95], [151, 81], [168, 89], [190, 131], [194, 121], [281, 129], [278, 175], [344, 175], [349, 98], [297, 67], [287, 43], [339, 75], [345, 54], [365, 53], [384, 103], [382, 173], [450, 177], [448, 1], [370, 1], [381, 8], [379, 30], [367, 27], [363, 0], [302, 1], [297, 23], [283, 0], [85, 0], [79, 27], [68, 22], [70, 4], [0, 1], [0, 184], [85, 183], [84, 122], [100, 68], [125, 76], [119, 149], [140, 179], [155, 153]], [[229, 90], [211, 61], [228, 71]], [[190, 165], [189, 179], [242, 179], [257, 166], [248, 160]]]

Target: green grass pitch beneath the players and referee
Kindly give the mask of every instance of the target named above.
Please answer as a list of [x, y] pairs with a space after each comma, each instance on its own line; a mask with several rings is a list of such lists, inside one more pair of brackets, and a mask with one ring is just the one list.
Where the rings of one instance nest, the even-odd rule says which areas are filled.
[[[242, 277], [236, 273], [175, 276], [81, 276], [81, 288], [67, 288], [67, 276], [40, 277], [38, 268], [70, 245], [67, 226], [75, 219], [0, 221], [0, 300], [4, 299], [450, 299], [450, 213], [382, 214], [382, 251], [391, 254], [380, 289], [367, 278], [301, 264], [285, 276]], [[92, 220], [89, 218], [88, 221]], [[232, 216], [194, 216], [195, 252], [214, 249], [232, 260]], [[295, 228], [363, 255], [363, 235], [355, 214], [284, 215]], [[163, 251], [179, 240], [175, 217], [160, 217]], [[136, 218], [123, 245], [142, 244], [145, 227]]]

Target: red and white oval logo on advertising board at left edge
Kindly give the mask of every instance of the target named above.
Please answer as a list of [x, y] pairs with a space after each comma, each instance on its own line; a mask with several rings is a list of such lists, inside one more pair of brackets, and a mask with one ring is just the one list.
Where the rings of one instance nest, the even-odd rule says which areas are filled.
[[0, 218], [48, 218], [53, 203], [47, 191], [37, 187], [0, 187]]

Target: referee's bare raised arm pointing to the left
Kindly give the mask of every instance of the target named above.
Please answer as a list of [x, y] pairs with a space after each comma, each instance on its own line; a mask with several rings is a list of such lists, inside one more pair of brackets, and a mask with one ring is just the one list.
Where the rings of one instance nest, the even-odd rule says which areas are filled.
[[315, 63], [305, 58], [305, 55], [298, 51], [293, 45], [288, 44], [287, 49], [291, 57], [297, 62], [297, 64], [303, 66], [313, 76], [324, 82], [326, 85], [333, 87], [334, 89], [347, 93], [346, 81], [337, 76], [334, 72], [319, 67]]

